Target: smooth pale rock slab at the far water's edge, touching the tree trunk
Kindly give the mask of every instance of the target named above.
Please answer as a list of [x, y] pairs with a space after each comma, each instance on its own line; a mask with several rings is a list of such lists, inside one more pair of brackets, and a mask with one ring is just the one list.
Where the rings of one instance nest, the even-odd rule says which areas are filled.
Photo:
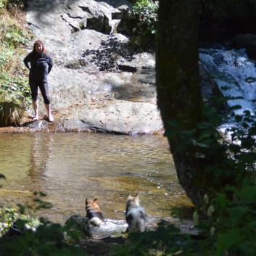
[[91, 110], [77, 108], [62, 123], [65, 131], [154, 134], [162, 130], [157, 106], [141, 102], [117, 102]]

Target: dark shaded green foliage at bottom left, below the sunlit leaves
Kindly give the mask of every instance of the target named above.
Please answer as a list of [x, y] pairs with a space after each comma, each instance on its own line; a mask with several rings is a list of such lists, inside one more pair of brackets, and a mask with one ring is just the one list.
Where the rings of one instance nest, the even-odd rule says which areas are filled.
[[57, 223], [50, 223], [43, 218], [36, 231], [25, 229], [26, 221], [17, 220], [16, 225], [22, 231], [20, 236], [4, 236], [0, 239], [1, 256], [70, 256], [86, 255], [81, 247], [67, 244], [64, 234], [68, 234], [69, 228]]

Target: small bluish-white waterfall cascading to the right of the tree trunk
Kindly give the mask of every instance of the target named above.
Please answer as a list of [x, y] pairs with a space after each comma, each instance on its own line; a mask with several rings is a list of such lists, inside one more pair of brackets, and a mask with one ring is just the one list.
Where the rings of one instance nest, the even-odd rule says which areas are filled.
[[245, 49], [228, 49], [215, 46], [212, 49], [199, 49], [199, 59], [215, 79], [224, 96], [231, 97], [228, 106], [240, 105], [236, 115], [248, 110], [256, 111], [256, 67], [249, 60]]

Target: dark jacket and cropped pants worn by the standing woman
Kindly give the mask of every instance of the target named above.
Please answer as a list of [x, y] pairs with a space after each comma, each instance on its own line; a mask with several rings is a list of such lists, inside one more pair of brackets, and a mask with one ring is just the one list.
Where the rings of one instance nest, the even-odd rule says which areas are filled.
[[[30, 70], [29, 85], [33, 101], [38, 99], [38, 87], [45, 104], [50, 104], [47, 76], [51, 72], [54, 62], [49, 54], [30, 52], [24, 59], [25, 66]], [[28, 64], [30, 63], [30, 65]]]

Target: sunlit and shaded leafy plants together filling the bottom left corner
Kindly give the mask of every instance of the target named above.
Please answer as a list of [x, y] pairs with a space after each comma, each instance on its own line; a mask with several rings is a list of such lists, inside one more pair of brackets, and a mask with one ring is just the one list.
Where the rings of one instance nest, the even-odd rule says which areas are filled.
[[85, 256], [86, 252], [76, 241], [79, 231], [74, 231], [71, 224], [51, 223], [44, 218], [31, 219], [25, 210], [48, 209], [51, 205], [42, 198], [42, 192], [34, 193], [33, 205], [19, 205], [20, 210], [0, 209], [0, 222], [4, 223], [0, 236], [1, 256], [33, 256], [33, 255], [77, 255]]

